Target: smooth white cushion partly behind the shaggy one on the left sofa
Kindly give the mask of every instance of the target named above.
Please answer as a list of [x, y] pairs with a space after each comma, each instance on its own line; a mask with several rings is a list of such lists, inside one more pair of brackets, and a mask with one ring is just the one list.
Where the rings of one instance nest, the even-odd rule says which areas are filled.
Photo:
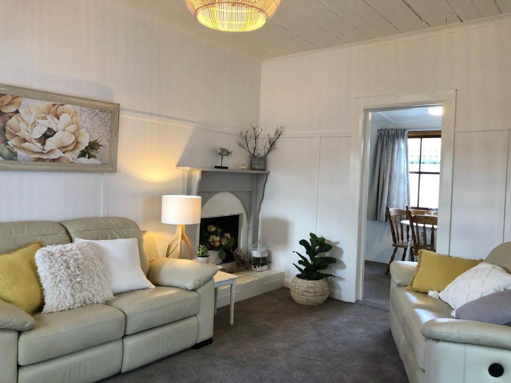
[[76, 238], [75, 242], [92, 242], [101, 248], [103, 263], [108, 271], [113, 294], [154, 287], [140, 266], [136, 238], [100, 241]]

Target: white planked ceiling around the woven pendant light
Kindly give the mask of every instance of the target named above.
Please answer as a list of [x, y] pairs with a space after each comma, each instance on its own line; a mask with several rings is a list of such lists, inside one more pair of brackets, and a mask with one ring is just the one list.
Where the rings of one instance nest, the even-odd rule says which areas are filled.
[[511, 0], [282, 0], [252, 32], [201, 26], [182, 0], [138, 0], [185, 31], [266, 59], [511, 13]]

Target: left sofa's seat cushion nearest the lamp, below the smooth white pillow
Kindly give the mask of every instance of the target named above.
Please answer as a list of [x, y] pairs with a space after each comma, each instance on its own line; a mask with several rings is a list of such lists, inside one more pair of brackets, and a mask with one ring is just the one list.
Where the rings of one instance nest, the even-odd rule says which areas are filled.
[[107, 304], [125, 314], [125, 334], [128, 335], [197, 314], [199, 294], [195, 291], [156, 286], [154, 289], [116, 295]]

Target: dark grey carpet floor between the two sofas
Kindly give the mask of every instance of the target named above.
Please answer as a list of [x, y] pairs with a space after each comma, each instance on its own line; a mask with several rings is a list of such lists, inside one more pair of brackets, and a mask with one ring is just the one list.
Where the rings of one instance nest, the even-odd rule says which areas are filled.
[[282, 288], [218, 309], [214, 343], [184, 350], [117, 382], [391, 382], [406, 383], [389, 330], [386, 265], [366, 262], [364, 299], [295, 303]]

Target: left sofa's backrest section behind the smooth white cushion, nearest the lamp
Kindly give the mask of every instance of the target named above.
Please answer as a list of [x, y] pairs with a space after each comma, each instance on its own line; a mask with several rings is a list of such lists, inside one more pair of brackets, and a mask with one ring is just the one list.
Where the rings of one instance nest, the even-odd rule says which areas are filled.
[[136, 238], [138, 240], [138, 252], [140, 254], [140, 266], [147, 275], [149, 272], [149, 260], [146, 255], [142, 232], [138, 225], [127, 218], [103, 217], [103, 218], [79, 218], [62, 221], [60, 223], [71, 238], [83, 238], [84, 240], [117, 240], [118, 238]]

